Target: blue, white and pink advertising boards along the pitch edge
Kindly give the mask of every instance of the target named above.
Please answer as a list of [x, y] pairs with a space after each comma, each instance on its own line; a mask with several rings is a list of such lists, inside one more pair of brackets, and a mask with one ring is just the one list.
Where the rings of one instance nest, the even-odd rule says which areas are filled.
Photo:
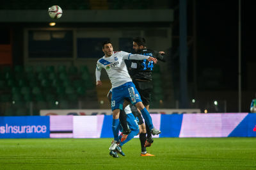
[[[154, 137], [256, 137], [256, 114], [151, 114]], [[111, 115], [2, 116], [0, 138], [113, 137]], [[138, 136], [137, 136], [138, 137]]]

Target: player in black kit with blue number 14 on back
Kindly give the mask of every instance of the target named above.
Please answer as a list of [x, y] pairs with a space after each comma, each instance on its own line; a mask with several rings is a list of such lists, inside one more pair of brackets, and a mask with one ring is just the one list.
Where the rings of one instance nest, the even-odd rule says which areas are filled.
[[[164, 60], [164, 52], [157, 52], [155, 50], [147, 49], [146, 40], [142, 37], [133, 38], [133, 49], [136, 54], [141, 54], [144, 56], [150, 56], [157, 58], [160, 61], [165, 62]], [[144, 60], [130, 60], [127, 64], [127, 68], [129, 71], [129, 75], [132, 78], [132, 82], [135, 84], [138, 92], [141, 95], [141, 100], [145, 105], [146, 109], [149, 109], [150, 104], [150, 96], [152, 93], [153, 85], [152, 85], [152, 72], [154, 70], [154, 62]], [[147, 153], [146, 147], [151, 146], [153, 143], [152, 134], [148, 125], [143, 123], [143, 119], [141, 114], [137, 111], [137, 109], [132, 108], [132, 113], [139, 120], [139, 125], [142, 128], [142, 132], [140, 134], [140, 142], [141, 142], [141, 156], [154, 156]], [[147, 130], [146, 130], [147, 129]], [[146, 137], [147, 132], [147, 137]]]

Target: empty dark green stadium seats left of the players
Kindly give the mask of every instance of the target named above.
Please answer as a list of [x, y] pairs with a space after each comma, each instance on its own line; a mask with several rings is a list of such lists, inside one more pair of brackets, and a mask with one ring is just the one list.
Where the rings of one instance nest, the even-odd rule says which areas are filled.
[[3, 116], [38, 115], [40, 109], [76, 108], [94, 88], [87, 66], [4, 66], [0, 70]]

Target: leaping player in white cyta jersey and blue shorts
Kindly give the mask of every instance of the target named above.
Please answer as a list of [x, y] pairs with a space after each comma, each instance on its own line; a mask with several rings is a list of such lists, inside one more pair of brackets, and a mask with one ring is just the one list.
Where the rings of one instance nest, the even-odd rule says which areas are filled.
[[144, 120], [147, 122], [153, 135], [158, 135], [161, 133], [160, 130], [154, 128], [152, 123], [152, 118], [141, 102], [140, 94], [132, 83], [132, 79], [128, 73], [127, 67], [125, 65], [125, 59], [147, 59], [148, 61], [157, 62], [156, 58], [150, 56], [142, 56], [140, 54], [129, 54], [128, 52], [120, 51], [113, 52], [113, 46], [111, 42], [104, 42], [102, 44], [102, 51], [105, 56], [97, 61], [97, 66], [95, 70], [96, 75], [96, 85], [101, 86], [100, 81], [100, 71], [102, 68], [108, 73], [108, 77], [112, 84], [112, 100], [111, 109], [113, 111], [113, 123], [112, 130], [114, 135], [114, 141], [111, 144], [109, 150], [115, 150], [118, 143], [118, 124], [119, 124], [119, 114], [120, 109], [123, 109], [124, 98], [129, 98], [130, 102], [138, 109], [140, 109]]

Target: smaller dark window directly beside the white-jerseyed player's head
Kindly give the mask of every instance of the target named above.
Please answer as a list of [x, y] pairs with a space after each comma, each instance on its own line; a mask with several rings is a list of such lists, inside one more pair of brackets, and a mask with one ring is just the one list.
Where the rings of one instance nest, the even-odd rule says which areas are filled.
[[77, 38], [77, 58], [101, 58], [102, 42], [109, 38]]

